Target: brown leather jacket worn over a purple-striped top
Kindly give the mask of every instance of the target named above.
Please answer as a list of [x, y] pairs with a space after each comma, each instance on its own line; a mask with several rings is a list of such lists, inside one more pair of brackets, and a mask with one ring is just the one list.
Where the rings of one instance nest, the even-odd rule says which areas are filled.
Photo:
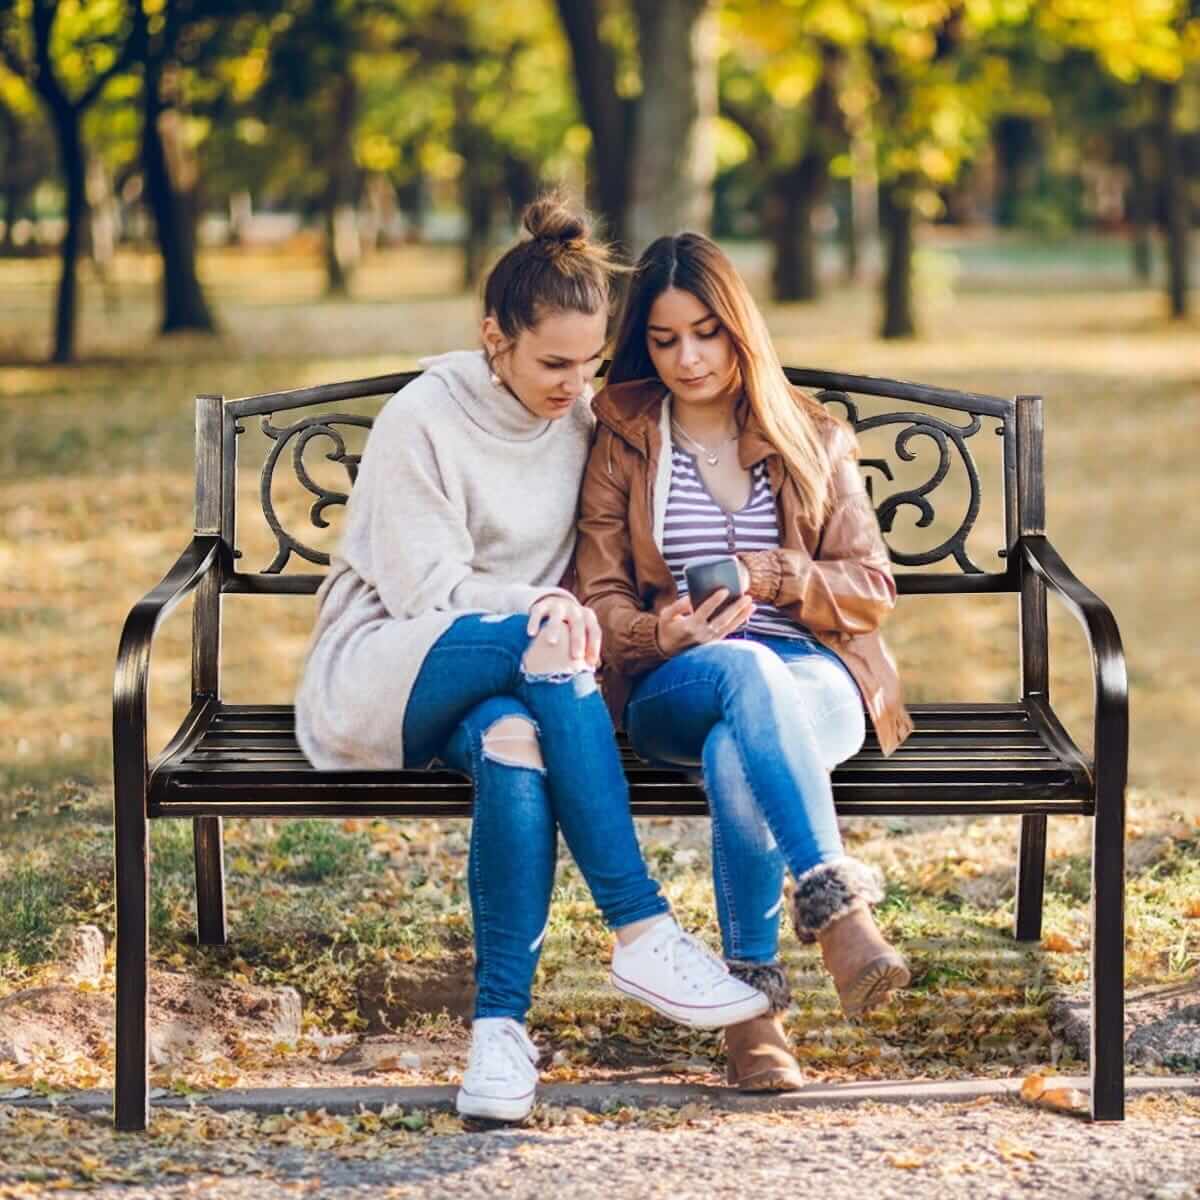
[[[638, 379], [605, 388], [593, 404], [598, 425], [580, 499], [576, 589], [604, 630], [605, 698], [617, 724], [634, 677], [666, 660], [658, 613], [678, 595], [654, 540], [665, 395], [660, 380]], [[803, 394], [797, 398], [811, 406], [833, 464], [828, 517], [820, 529], [803, 520], [782, 456], [743, 403], [738, 460], [745, 468], [767, 460], [781, 548], [739, 557], [750, 571], [750, 594], [805, 625], [846, 664], [881, 749], [892, 754], [912, 731], [912, 720], [895, 662], [877, 632], [895, 605], [888, 552], [859, 474], [853, 431]]]

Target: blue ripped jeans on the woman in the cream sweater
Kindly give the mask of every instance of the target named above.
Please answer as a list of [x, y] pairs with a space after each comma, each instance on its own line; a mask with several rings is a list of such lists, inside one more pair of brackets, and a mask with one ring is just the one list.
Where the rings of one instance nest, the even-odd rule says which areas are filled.
[[[595, 677], [527, 674], [527, 623], [460, 617], [426, 655], [404, 713], [406, 763], [437, 757], [475, 785], [468, 871], [476, 1019], [524, 1020], [550, 916], [556, 828], [611, 928], [668, 910], [637, 845]], [[540, 767], [514, 764], [485, 744], [505, 718], [533, 726]]]

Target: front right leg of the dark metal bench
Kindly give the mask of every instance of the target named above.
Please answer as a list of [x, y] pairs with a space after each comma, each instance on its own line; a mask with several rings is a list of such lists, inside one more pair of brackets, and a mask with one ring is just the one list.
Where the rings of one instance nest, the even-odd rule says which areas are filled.
[[1104, 779], [1092, 832], [1092, 1120], [1124, 1120], [1124, 788]]

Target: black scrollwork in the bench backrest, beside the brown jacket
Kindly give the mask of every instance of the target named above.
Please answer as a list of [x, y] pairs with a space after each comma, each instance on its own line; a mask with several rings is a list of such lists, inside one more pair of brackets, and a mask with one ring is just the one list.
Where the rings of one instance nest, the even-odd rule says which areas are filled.
[[[888, 540], [888, 553], [892, 560], [904, 566], [928, 566], [940, 563], [946, 558], [953, 558], [959, 568], [968, 575], [985, 574], [983, 568], [971, 559], [967, 553], [967, 538], [974, 528], [976, 518], [979, 516], [982, 502], [982, 488], [979, 484], [979, 470], [976, 466], [967, 439], [974, 437], [982, 428], [983, 421], [978, 413], [970, 415], [970, 421], [965, 425], [956, 425], [942, 416], [934, 416], [929, 413], [901, 412], [880, 413], [874, 416], [862, 416], [858, 404], [845, 392], [824, 391], [817, 394], [817, 400], [826, 404], [838, 404], [845, 409], [846, 419], [854, 427], [856, 433], [865, 433], [871, 430], [888, 426], [900, 426], [895, 436], [895, 455], [902, 462], [916, 462], [918, 451], [913, 443], [918, 439], [926, 439], [937, 454], [937, 460], [932, 473], [926, 480], [914, 487], [902, 491], [890, 492], [882, 500], [876, 500], [876, 479], [882, 478], [887, 482], [894, 482], [895, 475], [887, 458], [863, 458], [859, 466], [863, 468], [868, 496], [875, 504], [875, 512], [880, 521], [880, 528], [884, 538], [892, 533], [895, 524], [896, 514], [904, 509], [914, 509], [917, 512], [914, 524], [919, 529], [929, 528], [934, 523], [935, 510], [930, 494], [949, 475], [955, 460], [959, 460], [966, 473], [968, 494], [966, 510], [958, 526], [936, 546], [920, 551], [896, 550]], [[875, 474], [868, 474], [868, 472]]]

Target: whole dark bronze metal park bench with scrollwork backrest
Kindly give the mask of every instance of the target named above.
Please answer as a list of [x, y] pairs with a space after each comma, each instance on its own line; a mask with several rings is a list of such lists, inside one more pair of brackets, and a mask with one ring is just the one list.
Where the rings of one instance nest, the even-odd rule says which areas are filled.
[[[840, 406], [859, 431], [895, 427], [895, 455], [911, 462], [910, 445], [925, 438], [938, 451], [934, 475], [908, 490], [876, 496], [892, 481], [887, 460], [862, 466], [876, 512], [898, 566], [953, 563], [958, 571], [898, 574], [902, 594], [1014, 593], [1020, 613], [1021, 694], [1006, 702], [911, 706], [916, 728], [884, 758], [874, 733], [833, 773], [834, 800], [845, 816], [996, 815], [1021, 817], [1016, 863], [1015, 936], [1042, 934], [1046, 818], [1093, 818], [1092, 853], [1092, 1046], [1091, 1111], [1096, 1120], [1124, 1112], [1124, 788], [1128, 767], [1128, 701], [1124, 655], [1108, 606], [1063, 563], [1044, 530], [1042, 400], [1006, 400], [889, 379], [788, 368], [797, 384]], [[370, 426], [352, 414], [301, 416], [275, 425], [280, 413], [311, 406], [386, 396], [415, 373], [224, 401], [197, 400], [196, 533], [162, 582], [131, 611], [121, 634], [113, 700], [116, 868], [116, 1084], [120, 1129], [149, 1120], [148, 956], [149, 829], [160, 817], [193, 820], [198, 940], [227, 938], [222, 818], [229, 817], [464, 817], [472, 811], [469, 781], [451, 770], [319, 772], [295, 740], [293, 709], [282, 704], [230, 704], [220, 695], [221, 598], [232, 593], [312, 594], [322, 576], [286, 572], [299, 557], [323, 565], [328, 556], [286, 530], [271, 505], [271, 474], [290, 444], [292, 461], [317, 503], [313, 523], [347, 496], [329, 492], [304, 474], [304, 446], [332, 439], [326, 455], [341, 462], [353, 485], [358, 458], [336, 426]], [[900, 412], [863, 414], [859, 397], [896, 400]], [[916, 407], [913, 407], [916, 406]], [[932, 412], [931, 412], [932, 410]], [[263, 512], [278, 553], [260, 571], [240, 571], [235, 526], [238, 437], [248, 416], [262, 419], [275, 440], [262, 475]], [[971, 557], [968, 535], [980, 509], [979, 472], [967, 438], [984, 420], [1003, 438], [1003, 570], [984, 571]], [[931, 550], [893, 545], [894, 516], [902, 505], [932, 521], [930, 493], [960, 461], [967, 476], [966, 517]], [[1094, 750], [1085, 754], [1056, 716], [1049, 696], [1046, 594], [1076, 617], [1092, 656]], [[179, 730], [154, 758], [146, 740], [150, 658], [161, 623], [193, 598], [192, 703]], [[631, 805], [638, 816], [703, 816], [703, 790], [684, 772], [652, 767], [620, 739]]]

